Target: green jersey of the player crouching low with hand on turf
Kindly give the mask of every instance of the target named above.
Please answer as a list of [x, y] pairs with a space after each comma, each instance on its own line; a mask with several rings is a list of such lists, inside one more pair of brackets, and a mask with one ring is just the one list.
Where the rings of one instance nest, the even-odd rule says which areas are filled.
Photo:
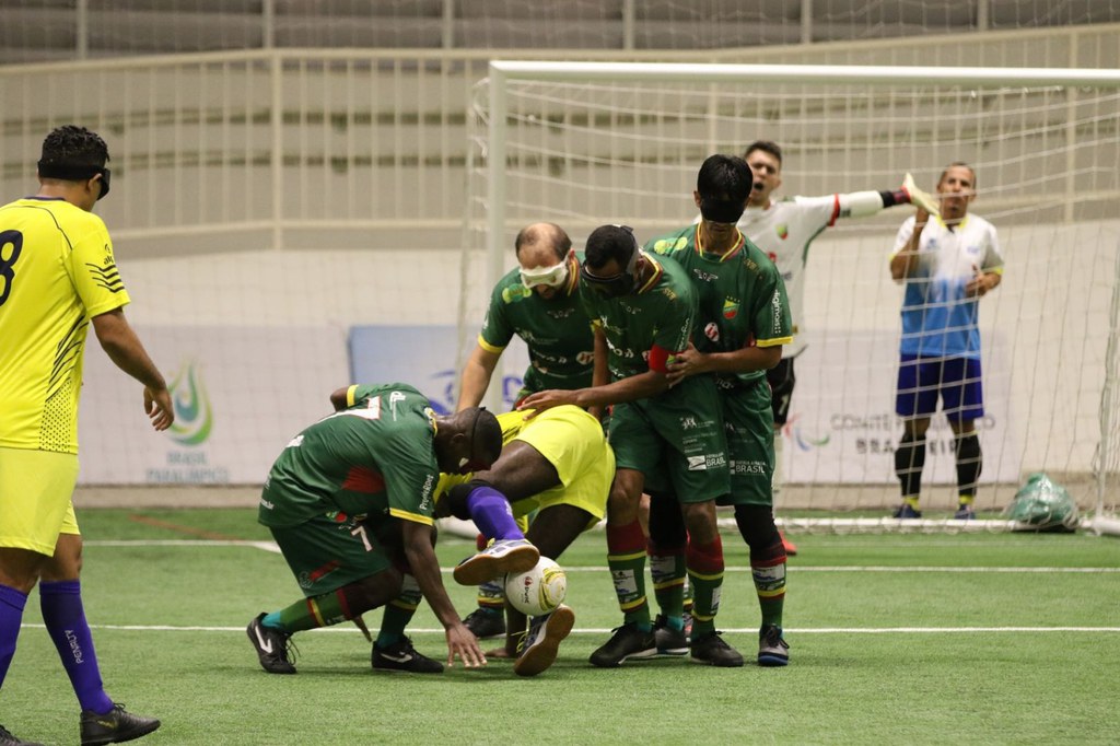
[[391, 383], [352, 385], [346, 403], [283, 449], [264, 482], [258, 520], [281, 528], [337, 512], [431, 524], [439, 466], [428, 399]]

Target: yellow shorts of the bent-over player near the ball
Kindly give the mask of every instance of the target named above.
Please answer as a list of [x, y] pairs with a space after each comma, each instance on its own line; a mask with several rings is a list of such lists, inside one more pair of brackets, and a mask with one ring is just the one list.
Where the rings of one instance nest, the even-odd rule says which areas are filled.
[[615, 451], [597, 419], [578, 407], [557, 407], [529, 420], [513, 439], [535, 448], [560, 476], [556, 487], [515, 502], [514, 515], [575, 505], [594, 516], [587, 528], [603, 520], [615, 478]]

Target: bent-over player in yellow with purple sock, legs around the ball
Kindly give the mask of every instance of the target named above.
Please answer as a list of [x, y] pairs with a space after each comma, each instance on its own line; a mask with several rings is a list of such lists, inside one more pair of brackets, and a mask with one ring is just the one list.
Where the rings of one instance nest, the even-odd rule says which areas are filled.
[[[538, 552], [557, 560], [572, 541], [606, 513], [615, 455], [599, 421], [575, 405], [541, 412], [498, 414], [502, 456], [488, 469], [466, 476], [441, 475], [437, 515], [472, 519], [492, 541], [455, 569], [457, 582], [474, 586], [506, 572], [532, 568]], [[522, 533], [516, 519], [534, 513]], [[505, 649], [488, 653], [516, 658], [514, 671], [536, 675], [556, 661], [571, 632], [575, 613], [560, 605], [532, 621], [506, 605]]]

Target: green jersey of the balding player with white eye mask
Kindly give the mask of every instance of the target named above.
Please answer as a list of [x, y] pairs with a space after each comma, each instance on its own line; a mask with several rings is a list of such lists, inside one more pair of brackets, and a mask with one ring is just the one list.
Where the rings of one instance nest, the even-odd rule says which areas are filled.
[[478, 345], [501, 354], [514, 335], [529, 347], [522, 395], [545, 389], [582, 389], [591, 385], [595, 337], [591, 323], [579, 302], [579, 276], [553, 298], [544, 299], [521, 282], [514, 269], [491, 293], [489, 309], [478, 334]]

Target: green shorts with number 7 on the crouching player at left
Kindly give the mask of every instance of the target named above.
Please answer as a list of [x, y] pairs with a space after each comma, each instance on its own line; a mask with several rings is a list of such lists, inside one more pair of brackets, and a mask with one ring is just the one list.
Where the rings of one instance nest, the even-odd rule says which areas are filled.
[[392, 567], [400, 547], [390, 534], [395, 529], [336, 512], [269, 530], [304, 595], [311, 598]]

